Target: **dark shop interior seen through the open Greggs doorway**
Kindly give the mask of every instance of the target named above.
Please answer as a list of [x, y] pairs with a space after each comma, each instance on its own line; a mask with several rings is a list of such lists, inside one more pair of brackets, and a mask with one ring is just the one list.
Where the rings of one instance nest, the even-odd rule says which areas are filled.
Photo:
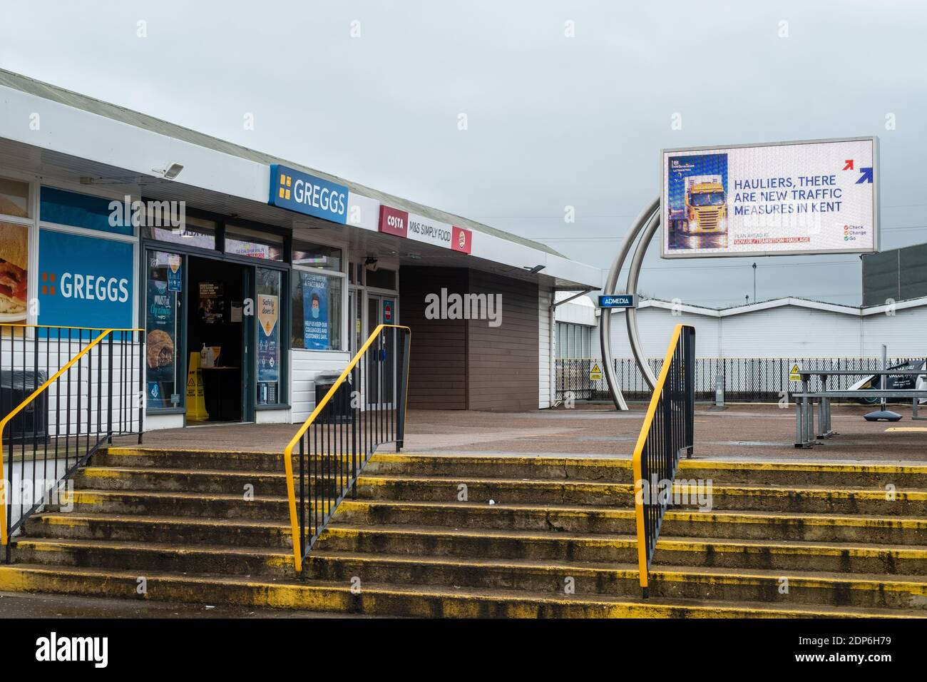
[[241, 421], [246, 266], [193, 256], [188, 263], [187, 348], [199, 355], [203, 402], [188, 398], [187, 422]]

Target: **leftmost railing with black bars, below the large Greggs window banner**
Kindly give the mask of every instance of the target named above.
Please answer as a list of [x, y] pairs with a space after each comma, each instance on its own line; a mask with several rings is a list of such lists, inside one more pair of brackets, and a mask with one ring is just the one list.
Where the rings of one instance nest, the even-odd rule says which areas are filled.
[[115, 435], [144, 429], [141, 329], [0, 327], [0, 542]]

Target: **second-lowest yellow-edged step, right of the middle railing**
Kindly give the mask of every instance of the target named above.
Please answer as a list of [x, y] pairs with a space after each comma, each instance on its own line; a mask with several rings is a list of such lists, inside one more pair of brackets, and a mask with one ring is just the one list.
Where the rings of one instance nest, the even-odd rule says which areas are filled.
[[[635, 598], [641, 587], [636, 565], [537, 560], [453, 559], [316, 551], [307, 560], [311, 579], [362, 585], [453, 585], [464, 589], [525, 590], [551, 595], [570, 588], [578, 597]], [[783, 585], [787, 590], [783, 590]], [[652, 598], [754, 601], [770, 605], [815, 604], [864, 609], [927, 610], [922, 576], [845, 576], [838, 573], [724, 571], [683, 566], [655, 567]], [[927, 616], [927, 611], [922, 611]]]

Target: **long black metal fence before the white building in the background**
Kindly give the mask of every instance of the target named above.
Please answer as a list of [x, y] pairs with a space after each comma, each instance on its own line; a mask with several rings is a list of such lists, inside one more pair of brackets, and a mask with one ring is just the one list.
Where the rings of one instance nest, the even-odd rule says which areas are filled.
[[[889, 367], [902, 365], [923, 358], [889, 358]], [[651, 358], [648, 365], [654, 376], [660, 373], [662, 358]], [[598, 358], [558, 358], [556, 360], [556, 398], [565, 401], [567, 396], [574, 400], [607, 401], [608, 386], [604, 379], [590, 379], [593, 364], [602, 363]], [[776, 403], [786, 394], [801, 391], [801, 381], [789, 380], [792, 367], [809, 370], [835, 369], [845, 371], [869, 371], [882, 369], [881, 357], [699, 357], [695, 359], [695, 399], [715, 399], [717, 381], [729, 403]], [[615, 358], [615, 375], [621, 392], [628, 400], [649, 400], [650, 388], [633, 358]], [[862, 377], [831, 377], [828, 387], [834, 391], [845, 391]], [[814, 379], [815, 384], [818, 379]], [[839, 384], [839, 385], [838, 385]], [[812, 391], [819, 389], [815, 385]], [[860, 400], [865, 397], [861, 396]], [[851, 398], [835, 399], [835, 402], [851, 402]], [[877, 401], [876, 401], [877, 402]]]

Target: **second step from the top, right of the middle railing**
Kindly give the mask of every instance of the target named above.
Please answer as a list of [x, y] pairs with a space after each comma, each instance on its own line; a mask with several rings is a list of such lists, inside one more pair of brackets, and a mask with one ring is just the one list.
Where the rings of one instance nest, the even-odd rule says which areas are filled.
[[[630, 483], [590, 481], [529, 481], [519, 479], [373, 476], [362, 474], [358, 496], [371, 500], [410, 502], [469, 501], [499, 504], [592, 505], [631, 507]], [[461, 497], [466, 494], [466, 499]], [[674, 485], [676, 508], [697, 508], [707, 489]], [[710, 504], [714, 510], [793, 511], [801, 513], [875, 514], [880, 516], [927, 516], [927, 490], [895, 491], [891, 496], [878, 488], [819, 488], [810, 486], [713, 485]]]

